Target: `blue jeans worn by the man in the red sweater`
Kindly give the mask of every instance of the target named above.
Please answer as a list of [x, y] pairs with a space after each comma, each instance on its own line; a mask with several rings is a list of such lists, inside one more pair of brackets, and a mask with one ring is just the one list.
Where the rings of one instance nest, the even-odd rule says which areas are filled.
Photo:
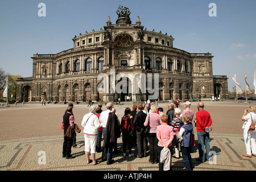
[[202, 162], [205, 162], [205, 151], [204, 146], [206, 150], [206, 160], [209, 161], [210, 159], [210, 135], [209, 133], [205, 132], [197, 132], [197, 138], [198, 138], [198, 151], [199, 151], [199, 159]]

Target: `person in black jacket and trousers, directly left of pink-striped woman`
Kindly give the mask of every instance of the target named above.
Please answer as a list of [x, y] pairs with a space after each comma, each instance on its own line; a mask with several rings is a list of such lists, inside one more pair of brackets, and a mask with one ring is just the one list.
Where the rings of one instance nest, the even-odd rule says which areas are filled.
[[134, 129], [137, 131], [137, 148], [138, 148], [138, 155], [137, 158], [143, 158], [146, 156], [147, 153], [147, 140], [146, 140], [146, 133], [144, 133], [144, 122], [146, 120], [147, 114], [143, 113], [142, 104], [138, 105], [138, 113], [135, 114], [133, 124]]

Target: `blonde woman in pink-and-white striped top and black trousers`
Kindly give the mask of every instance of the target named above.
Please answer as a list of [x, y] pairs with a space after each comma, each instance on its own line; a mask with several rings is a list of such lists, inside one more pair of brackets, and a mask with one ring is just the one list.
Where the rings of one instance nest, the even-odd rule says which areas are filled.
[[[161, 117], [156, 113], [156, 105], [151, 106], [152, 113], [148, 114], [144, 126], [150, 125], [150, 130], [148, 131], [148, 140], [150, 142], [150, 159], [148, 162], [151, 164], [157, 164], [158, 160], [158, 138], [156, 137], [156, 127], [161, 125]], [[149, 118], [149, 119], [148, 119]]]

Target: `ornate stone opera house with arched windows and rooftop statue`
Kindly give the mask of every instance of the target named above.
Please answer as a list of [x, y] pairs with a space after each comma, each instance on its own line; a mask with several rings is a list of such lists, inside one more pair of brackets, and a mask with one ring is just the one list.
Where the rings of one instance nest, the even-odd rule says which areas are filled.
[[[117, 12], [116, 24], [108, 17], [104, 30], [75, 36], [73, 48], [31, 57], [33, 76], [18, 79], [16, 100], [117, 101], [129, 96], [132, 101], [168, 101], [228, 97], [228, 78], [213, 76], [211, 53], [174, 48], [172, 36], [144, 29], [139, 16], [136, 24], [131, 24], [129, 9], [118, 10], [123, 13]], [[124, 77], [119, 79], [120, 75]], [[158, 80], [153, 79], [156, 76]]]

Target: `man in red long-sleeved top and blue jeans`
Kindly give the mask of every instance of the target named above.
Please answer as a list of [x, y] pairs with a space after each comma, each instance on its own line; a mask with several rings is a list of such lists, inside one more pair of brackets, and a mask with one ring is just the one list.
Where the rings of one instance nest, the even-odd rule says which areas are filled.
[[[196, 129], [197, 129], [197, 138], [198, 138], [198, 151], [199, 151], [199, 158], [196, 159], [199, 162], [205, 162], [206, 160], [209, 161], [210, 155], [210, 135], [209, 132], [205, 131], [205, 127], [209, 127], [212, 125], [212, 118], [210, 118], [210, 114], [208, 111], [204, 110], [204, 103], [199, 102], [197, 105], [198, 112], [196, 113]], [[204, 146], [206, 150], [206, 155], [204, 152]]]

